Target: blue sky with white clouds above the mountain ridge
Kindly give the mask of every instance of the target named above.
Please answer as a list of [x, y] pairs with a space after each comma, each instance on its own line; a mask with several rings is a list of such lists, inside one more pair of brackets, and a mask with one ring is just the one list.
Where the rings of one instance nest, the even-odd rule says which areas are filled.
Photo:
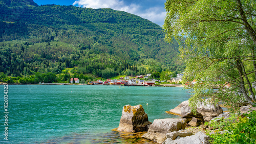
[[163, 26], [166, 0], [34, 0], [38, 5], [74, 5], [85, 8], [111, 8], [136, 14]]

